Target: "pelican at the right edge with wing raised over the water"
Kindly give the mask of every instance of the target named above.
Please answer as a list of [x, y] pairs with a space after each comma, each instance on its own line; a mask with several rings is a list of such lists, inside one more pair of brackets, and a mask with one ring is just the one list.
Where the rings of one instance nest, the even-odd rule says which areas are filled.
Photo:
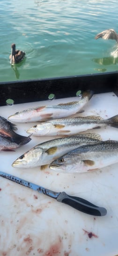
[[98, 38], [103, 38], [104, 40], [108, 40], [108, 39], [114, 39], [117, 42], [117, 49], [111, 53], [111, 55], [115, 58], [118, 57], [118, 34], [116, 33], [115, 30], [113, 29], [107, 29], [102, 31], [101, 33], [97, 34], [95, 39]]

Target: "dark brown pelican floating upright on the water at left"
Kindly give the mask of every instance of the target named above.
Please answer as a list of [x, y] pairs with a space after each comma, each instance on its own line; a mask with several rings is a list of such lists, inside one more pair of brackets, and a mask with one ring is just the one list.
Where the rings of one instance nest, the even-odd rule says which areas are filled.
[[15, 44], [12, 44], [11, 46], [11, 54], [9, 56], [10, 63], [19, 63], [24, 58], [25, 52], [22, 52], [20, 50], [15, 50]]

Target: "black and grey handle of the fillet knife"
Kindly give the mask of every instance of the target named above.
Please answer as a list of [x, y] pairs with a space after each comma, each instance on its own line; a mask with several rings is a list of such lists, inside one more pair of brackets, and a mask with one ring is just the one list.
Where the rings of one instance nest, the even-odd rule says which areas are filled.
[[90, 215], [104, 216], [107, 214], [107, 210], [105, 208], [96, 206], [95, 204], [88, 202], [83, 198], [77, 196], [70, 196], [65, 192], [59, 194], [57, 201], [66, 203], [73, 208]]

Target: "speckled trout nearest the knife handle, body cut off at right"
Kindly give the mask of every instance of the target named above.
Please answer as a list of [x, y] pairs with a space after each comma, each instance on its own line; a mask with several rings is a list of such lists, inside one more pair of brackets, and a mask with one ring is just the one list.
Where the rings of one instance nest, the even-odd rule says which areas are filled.
[[118, 163], [118, 141], [102, 141], [78, 147], [50, 164], [50, 169], [63, 173], [94, 171]]

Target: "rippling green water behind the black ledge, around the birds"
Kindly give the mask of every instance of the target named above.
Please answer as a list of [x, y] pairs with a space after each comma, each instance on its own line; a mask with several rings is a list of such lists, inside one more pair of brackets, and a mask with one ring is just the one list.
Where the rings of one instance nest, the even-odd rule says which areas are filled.
[[[94, 39], [109, 28], [117, 0], [0, 0], [0, 82], [116, 71], [115, 40]], [[12, 43], [26, 58], [11, 66]]]

